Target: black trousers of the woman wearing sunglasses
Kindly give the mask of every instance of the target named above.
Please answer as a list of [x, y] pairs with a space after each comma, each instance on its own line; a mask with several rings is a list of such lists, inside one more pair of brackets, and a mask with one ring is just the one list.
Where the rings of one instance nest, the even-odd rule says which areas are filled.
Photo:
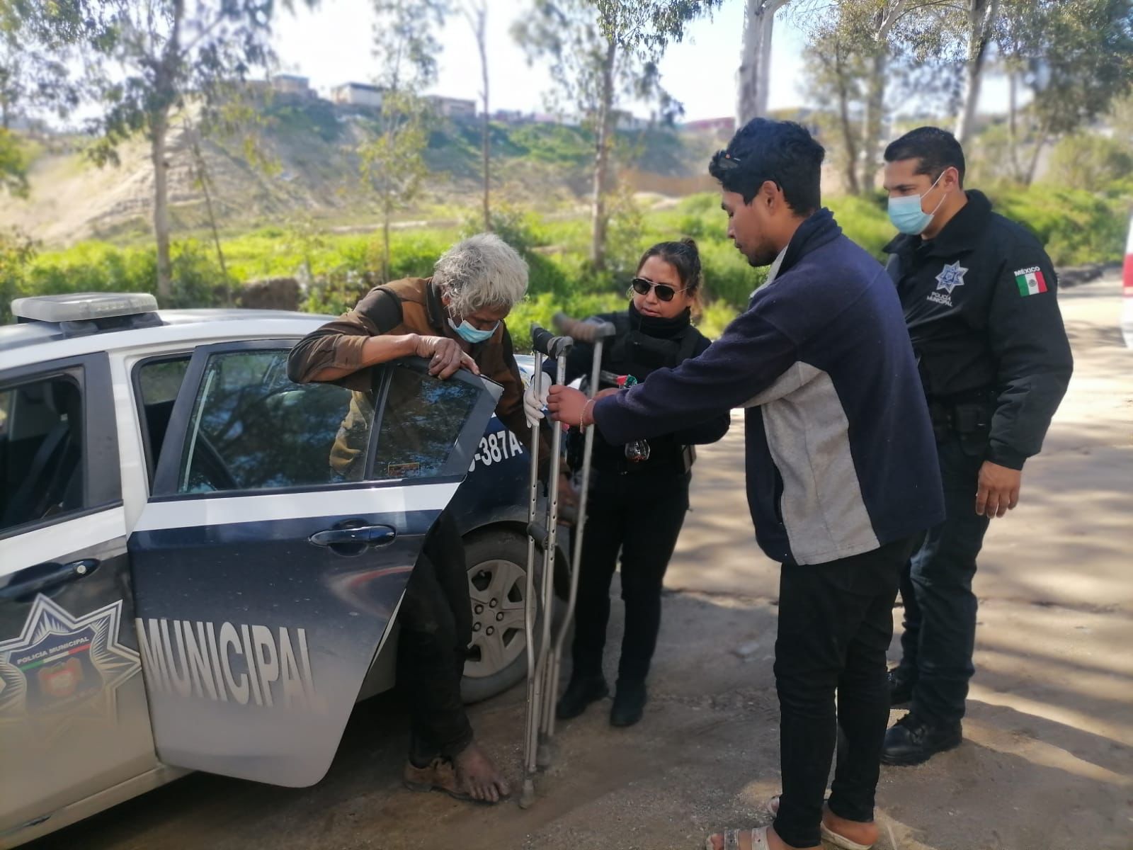
[[688, 473], [595, 470], [574, 614], [573, 674], [600, 675], [610, 583], [622, 560], [625, 631], [617, 678], [645, 681], [661, 630], [661, 588], [689, 509]]

